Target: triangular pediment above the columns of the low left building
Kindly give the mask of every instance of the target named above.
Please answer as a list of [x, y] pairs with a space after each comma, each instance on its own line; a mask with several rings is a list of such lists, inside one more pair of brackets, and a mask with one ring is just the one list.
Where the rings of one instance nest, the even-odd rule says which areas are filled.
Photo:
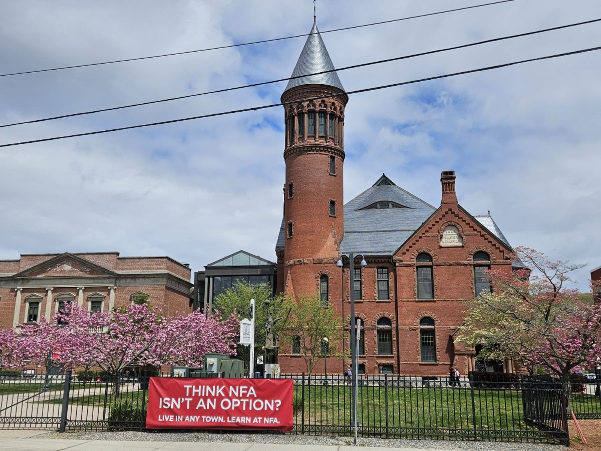
[[117, 273], [66, 252], [25, 269], [13, 277], [81, 277], [86, 275], [115, 276]]

